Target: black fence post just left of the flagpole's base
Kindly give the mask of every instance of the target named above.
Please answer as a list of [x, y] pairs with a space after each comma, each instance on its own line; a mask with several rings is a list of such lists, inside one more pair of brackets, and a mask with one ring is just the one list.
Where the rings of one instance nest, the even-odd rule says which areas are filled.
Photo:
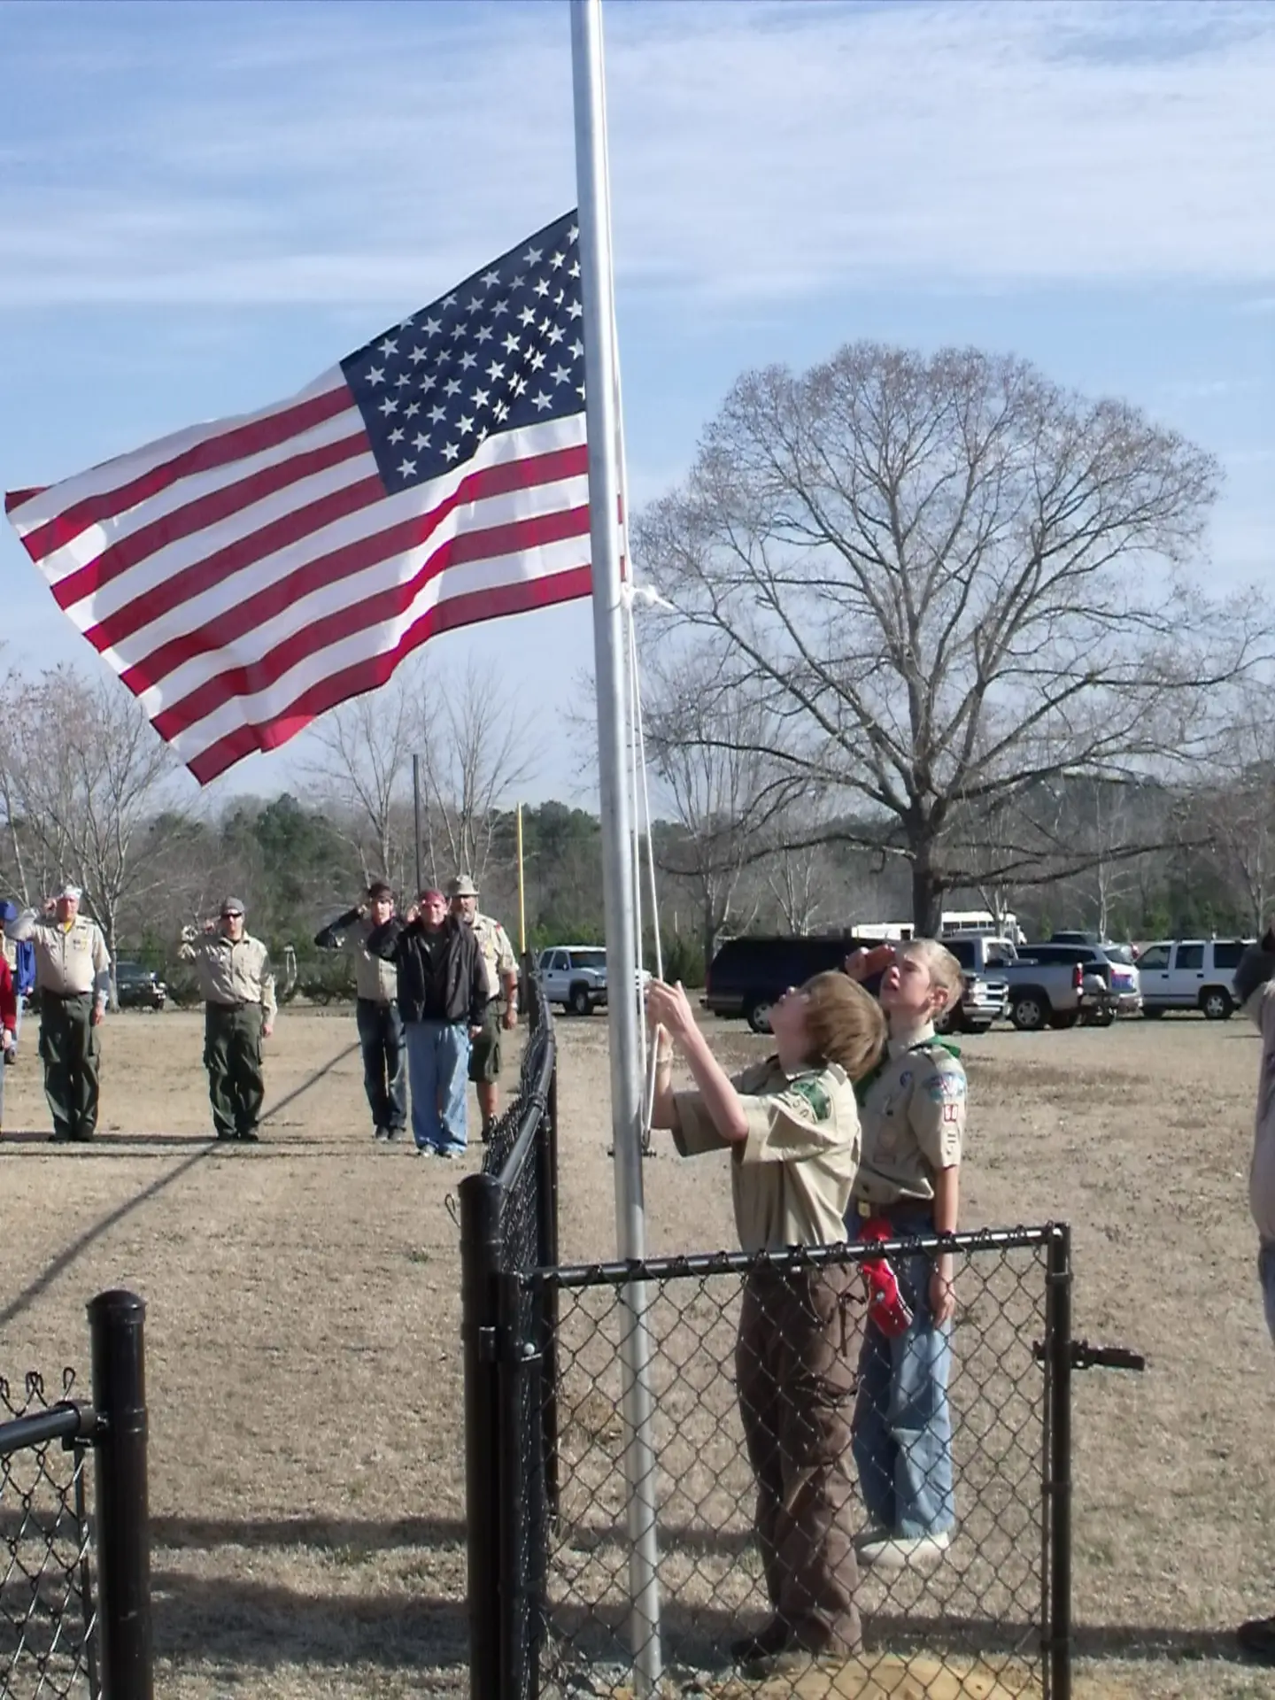
[[461, 1350], [469, 1571], [469, 1700], [500, 1681], [500, 1205], [491, 1175], [461, 1182]]

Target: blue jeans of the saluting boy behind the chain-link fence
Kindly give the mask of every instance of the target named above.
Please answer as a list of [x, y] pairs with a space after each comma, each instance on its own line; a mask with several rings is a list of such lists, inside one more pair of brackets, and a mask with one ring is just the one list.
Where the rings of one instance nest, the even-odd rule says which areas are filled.
[[[853, 1209], [853, 1207], [852, 1207]], [[928, 1210], [891, 1212], [894, 1238], [932, 1234]], [[857, 1239], [862, 1222], [847, 1217], [847, 1238]], [[872, 1523], [892, 1535], [915, 1538], [952, 1528], [952, 1413], [947, 1377], [952, 1368], [952, 1331], [935, 1328], [930, 1311], [933, 1258], [925, 1253], [892, 1260], [899, 1289], [911, 1307], [911, 1328], [887, 1338], [872, 1323], [858, 1357], [858, 1396], [852, 1445], [864, 1506]]]

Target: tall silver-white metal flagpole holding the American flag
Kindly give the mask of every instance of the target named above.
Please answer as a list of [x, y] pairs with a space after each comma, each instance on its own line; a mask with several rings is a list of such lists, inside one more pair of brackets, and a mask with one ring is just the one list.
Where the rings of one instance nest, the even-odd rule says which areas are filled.
[[[629, 685], [620, 576], [610, 185], [602, 94], [602, 0], [571, 0], [571, 70], [580, 197], [580, 265], [585, 304], [585, 406], [593, 563], [593, 661], [598, 699], [602, 881], [607, 916], [607, 1023], [610, 1114], [615, 1148], [615, 1239], [620, 1258], [646, 1256], [643, 1207], [636, 892], [632, 821], [626, 784]], [[661, 1674], [656, 1549], [656, 1469], [651, 1445], [651, 1343], [648, 1284], [622, 1289], [624, 1477], [629, 1532], [629, 1640], [634, 1686], [653, 1695]]]

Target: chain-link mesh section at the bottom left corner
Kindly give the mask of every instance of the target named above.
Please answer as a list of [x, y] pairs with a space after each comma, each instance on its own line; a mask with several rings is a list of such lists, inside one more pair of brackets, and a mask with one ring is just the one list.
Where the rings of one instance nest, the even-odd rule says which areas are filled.
[[[0, 1377], [0, 1695], [99, 1693], [83, 1438], [92, 1411], [75, 1404], [73, 1387], [75, 1372], [63, 1370], [53, 1402], [37, 1374], [22, 1391]], [[49, 1435], [58, 1418], [65, 1433]]]

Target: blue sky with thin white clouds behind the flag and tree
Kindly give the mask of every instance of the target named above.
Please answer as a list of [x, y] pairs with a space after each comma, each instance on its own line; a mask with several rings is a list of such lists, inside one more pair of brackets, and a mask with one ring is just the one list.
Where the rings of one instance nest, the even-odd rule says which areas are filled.
[[[1270, 580], [1275, 7], [617, 0], [605, 26], [638, 505], [750, 366], [976, 343], [1212, 449], [1200, 571]], [[291, 394], [573, 201], [559, 0], [10, 0], [0, 484]], [[8, 527], [0, 638], [97, 665]], [[432, 653], [568, 707], [590, 612]], [[578, 790], [580, 736], [546, 722], [532, 796]]]

